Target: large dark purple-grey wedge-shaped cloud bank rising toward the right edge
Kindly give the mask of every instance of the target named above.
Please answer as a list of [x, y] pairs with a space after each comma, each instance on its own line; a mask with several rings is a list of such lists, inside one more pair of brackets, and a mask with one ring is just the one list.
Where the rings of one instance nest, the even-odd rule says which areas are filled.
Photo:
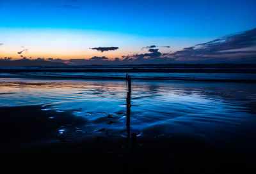
[[183, 48], [168, 56], [177, 62], [255, 62], [256, 28]]

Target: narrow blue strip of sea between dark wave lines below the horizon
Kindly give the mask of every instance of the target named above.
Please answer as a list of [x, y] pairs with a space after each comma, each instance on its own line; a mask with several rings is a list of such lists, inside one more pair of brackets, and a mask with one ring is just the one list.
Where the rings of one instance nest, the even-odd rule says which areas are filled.
[[[123, 72], [22, 72], [1, 73], [3, 78], [125, 79]], [[256, 82], [255, 73], [129, 73], [136, 80], [194, 80]]]

